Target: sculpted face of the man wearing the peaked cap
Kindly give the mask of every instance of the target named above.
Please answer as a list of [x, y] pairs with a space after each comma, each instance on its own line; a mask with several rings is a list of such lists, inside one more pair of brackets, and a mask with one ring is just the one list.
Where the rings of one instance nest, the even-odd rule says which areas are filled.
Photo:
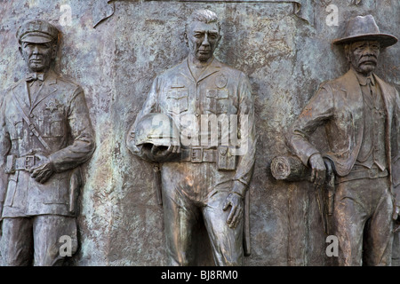
[[20, 45], [20, 53], [27, 62], [28, 67], [34, 72], [47, 70], [55, 57], [55, 44], [53, 43], [28, 43]]

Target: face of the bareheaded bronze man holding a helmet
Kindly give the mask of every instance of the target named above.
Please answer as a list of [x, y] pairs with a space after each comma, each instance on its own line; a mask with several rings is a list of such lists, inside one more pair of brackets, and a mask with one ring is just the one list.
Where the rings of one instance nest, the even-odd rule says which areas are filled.
[[199, 61], [207, 61], [220, 42], [218, 25], [215, 22], [194, 21], [185, 35], [190, 53]]

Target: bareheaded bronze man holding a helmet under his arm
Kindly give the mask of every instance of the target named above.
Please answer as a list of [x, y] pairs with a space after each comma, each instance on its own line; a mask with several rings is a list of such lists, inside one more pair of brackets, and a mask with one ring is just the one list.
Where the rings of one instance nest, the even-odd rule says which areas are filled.
[[[191, 250], [192, 234], [203, 216], [215, 264], [241, 265], [244, 197], [252, 177], [256, 143], [251, 86], [244, 73], [213, 57], [220, 42], [220, 23], [214, 12], [193, 12], [188, 19], [185, 40], [188, 58], [156, 77], [148, 99], [129, 130], [127, 146], [140, 157], [164, 161], [161, 180], [168, 264], [196, 264]], [[190, 128], [192, 143], [171, 144], [166, 149], [135, 145], [136, 126], [150, 113], [170, 115], [180, 128], [180, 138]], [[238, 119], [234, 133], [247, 146], [243, 154], [232, 154], [231, 147], [221, 143], [204, 146], [200, 138], [193, 138], [204, 115], [221, 117], [222, 114], [247, 118], [246, 125]], [[185, 117], [195, 123], [187, 124], [189, 120]], [[222, 126], [223, 130], [228, 127]], [[204, 135], [203, 128], [199, 132]], [[205, 137], [209, 134], [212, 135], [207, 133]], [[218, 136], [224, 137], [221, 130]], [[176, 154], [180, 158], [171, 160]]]

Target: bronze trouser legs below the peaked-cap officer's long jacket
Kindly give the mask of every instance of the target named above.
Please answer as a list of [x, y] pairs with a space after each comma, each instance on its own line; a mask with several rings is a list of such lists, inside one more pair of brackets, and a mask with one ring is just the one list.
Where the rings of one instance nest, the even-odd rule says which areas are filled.
[[[0, 252], [3, 266], [56, 266], [65, 256], [60, 248], [70, 237], [70, 252], [77, 249], [76, 217], [39, 215], [33, 217], [6, 217], [3, 219]], [[67, 248], [66, 248], [67, 249]], [[64, 255], [67, 250], [63, 250]]]

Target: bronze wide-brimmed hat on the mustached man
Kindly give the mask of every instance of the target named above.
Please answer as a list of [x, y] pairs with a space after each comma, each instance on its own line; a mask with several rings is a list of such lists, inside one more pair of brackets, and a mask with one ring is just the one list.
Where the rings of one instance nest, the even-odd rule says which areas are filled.
[[342, 44], [364, 40], [378, 41], [380, 47], [388, 47], [397, 43], [396, 36], [380, 33], [380, 28], [372, 15], [357, 16], [349, 20], [344, 37], [335, 39], [332, 43]]

